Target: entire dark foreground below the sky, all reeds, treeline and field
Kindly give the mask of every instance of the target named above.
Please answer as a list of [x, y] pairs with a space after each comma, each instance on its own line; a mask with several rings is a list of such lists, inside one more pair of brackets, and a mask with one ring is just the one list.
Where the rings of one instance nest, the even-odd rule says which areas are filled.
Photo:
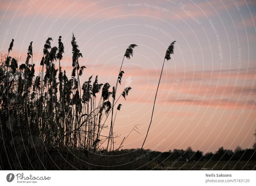
[[[233, 164], [234, 169], [255, 169], [256, 155], [252, 149], [237, 148], [233, 152], [220, 148], [204, 156], [190, 148], [161, 153], [142, 148], [147, 135], [141, 149], [121, 150], [126, 137], [116, 148], [115, 115], [121, 110], [120, 100], [125, 100], [132, 89], [126, 87], [119, 92], [117, 88], [124, 75], [124, 59], [133, 56], [137, 45], [131, 44], [125, 50], [115, 86], [111, 87], [108, 82], [99, 83], [98, 76], [81, 82], [86, 67], [79, 64], [83, 56], [74, 35], [70, 76], [61, 68], [61, 36], [58, 47], [52, 47], [51, 41], [49, 37], [44, 44], [38, 74], [33, 64], [32, 42], [25, 63], [18, 64], [19, 59], [10, 56], [14, 40], [8, 53], [1, 55], [1, 170], [232, 169]], [[171, 59], [174, 43], [168, 47], [164, 61]], [[154, 107], [148, 132], [153, 112]], [[107, 130], [108, 135], [103, 135], [102, 130]], [[216, 166], [213, 162], [217, 162]]]

